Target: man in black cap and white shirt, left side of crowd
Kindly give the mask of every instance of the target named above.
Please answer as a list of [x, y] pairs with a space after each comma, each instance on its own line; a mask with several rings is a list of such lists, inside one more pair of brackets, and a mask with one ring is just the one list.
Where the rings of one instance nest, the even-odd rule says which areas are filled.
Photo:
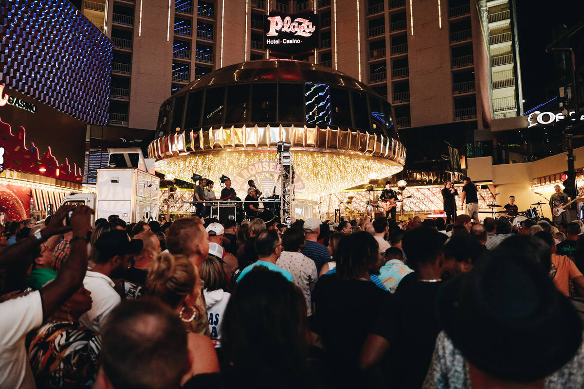
[[91, 292], [91, 309], [79, 318], [79, 323], [89, 330], [99, 332], [107, 315], [120, 303], [120, 295], [114, 290], [112, 279], [119, 279], [130, 265], [130, 258], [140, 253], [143, 243], [131, 239], [122, 230], [104, 233], [95, 242], [98, 255], [95, 267], [88, 271], [83, 280], [85, 289]]

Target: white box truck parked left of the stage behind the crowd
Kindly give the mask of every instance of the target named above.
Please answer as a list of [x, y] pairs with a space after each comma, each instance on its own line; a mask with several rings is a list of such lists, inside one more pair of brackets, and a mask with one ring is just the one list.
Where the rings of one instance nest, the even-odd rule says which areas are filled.
[[158, 220], [159, 178], [154, 160], [140, 149], [108, 149], [109, 166], [98, 169], [95, 193], [68, 195], [61, 205], [83, 204], [95, 211], [93, 220], [118, 215], [127, 223]]

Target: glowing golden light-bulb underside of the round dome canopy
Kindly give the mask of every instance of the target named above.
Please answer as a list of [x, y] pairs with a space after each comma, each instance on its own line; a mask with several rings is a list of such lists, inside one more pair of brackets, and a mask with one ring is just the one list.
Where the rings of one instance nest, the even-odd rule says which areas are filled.
[[[276, 161], [276, 153], [268, 150], [221, 150], [197, 153], [159, 160], [156, 170], [180, 180], [190, 182], [193, 173], [218, 183], [221, 174], [232, 178], [238, 194], [245, 194], [247, 180], [259, 180], [270, 173], [235, 177], [246, 167], [264, 161]], [[325, 194], [367, 183], [371, 177], [383, 178], [402, 170], [402, 166], [388, 159], [349, 152], [314, 152], [293, 150], [292, 162], [297, 174], [296, 198], [314, 199]], [[263, 175], [263, 176], [262, 176]], [[277, 174], [271, 173], [273, 178]], [[218, 189], [217, 185], [215, 189]], [[270, 188], [271, 191], [271, 188]], [[240, 195], [243, 198], [243, 196]]]

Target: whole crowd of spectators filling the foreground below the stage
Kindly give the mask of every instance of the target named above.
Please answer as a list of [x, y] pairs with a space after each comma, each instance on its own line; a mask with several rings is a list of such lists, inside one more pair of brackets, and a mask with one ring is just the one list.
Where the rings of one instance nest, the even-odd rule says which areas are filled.
[[584, 225], [0, 225], [0, 388], [582, 388]]

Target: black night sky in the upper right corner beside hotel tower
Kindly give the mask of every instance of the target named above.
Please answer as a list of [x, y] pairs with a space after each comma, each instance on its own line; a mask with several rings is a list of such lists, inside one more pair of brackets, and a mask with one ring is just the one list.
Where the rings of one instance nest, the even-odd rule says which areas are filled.
[[[516, 0], [517, 29], [519, 30], [519, 57], [523, 83], [524, 110], [544, 103], [548, 97], [546, 85], [555, 79], [554, 56], [545, 52], [553, 40], [554, 26], [574, 26], [584, 19], [583, 0]], [[571, 38], [576, 51], [576, 66], [584, 65], [584, 29]], [[550, 89], [550, 88], [548, 88]]]

